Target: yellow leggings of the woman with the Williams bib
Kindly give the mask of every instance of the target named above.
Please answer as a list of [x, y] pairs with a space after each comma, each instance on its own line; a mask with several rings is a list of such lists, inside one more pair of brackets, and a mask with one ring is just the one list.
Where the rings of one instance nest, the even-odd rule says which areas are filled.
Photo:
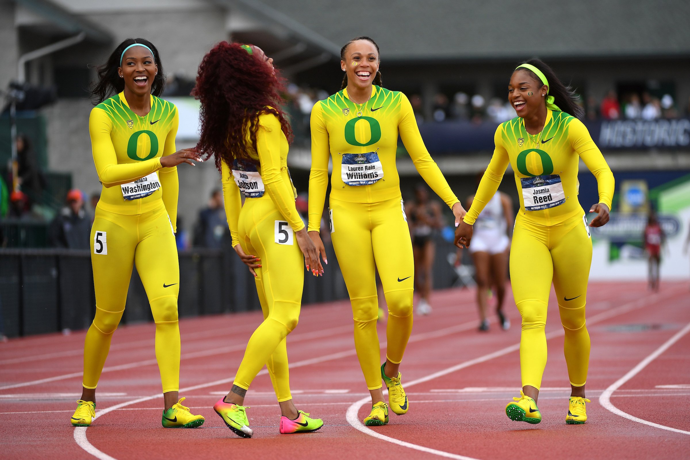
[[415, 264], [402, 199], [351, 203], [331, 197], [330, 212], [333, 248], [352, 303], [359, 366], [368, 389], [376, 390], [382, 383], [375, 268], [388, 304], [388, 361], [402, 361], [412, 332]]

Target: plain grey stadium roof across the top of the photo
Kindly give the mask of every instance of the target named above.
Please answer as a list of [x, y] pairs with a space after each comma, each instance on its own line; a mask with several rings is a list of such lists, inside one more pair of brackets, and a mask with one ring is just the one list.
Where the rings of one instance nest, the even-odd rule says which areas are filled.
[[[216, 1], [216, 3], [226, 3]], [[386, 61], [690, 56], [687, 0], [236, 0], [337, 56], [357, 35]]]

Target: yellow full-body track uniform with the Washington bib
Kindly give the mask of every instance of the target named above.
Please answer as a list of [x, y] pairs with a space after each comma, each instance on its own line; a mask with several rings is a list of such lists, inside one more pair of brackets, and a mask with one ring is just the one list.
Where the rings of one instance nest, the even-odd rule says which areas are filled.
[[155, 96], [146, 117], [130, 110], [124, 93], [91, 110], [93, 160], [103, 190], [91, 228], [96, 316], [84, 343], [85, 388], [97, 386], [136, 263], [156, 323], [163, 392], [179, 390], [179, 262], [171, 223], [179, 184], [177, 168], [161, 168], [160, 161], [176, 151], [177, 123], [177, 108]]

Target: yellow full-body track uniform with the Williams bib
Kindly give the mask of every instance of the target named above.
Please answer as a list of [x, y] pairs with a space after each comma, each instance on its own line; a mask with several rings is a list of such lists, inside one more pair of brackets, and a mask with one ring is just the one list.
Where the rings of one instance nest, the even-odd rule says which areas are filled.
[[457, 197], [424, 147], [412, 106], [402, 92], [373, 86], [371, 99], [360, 106], [342, 90], [317, 102], [311, 112], [308, 230], [319, 230], [331, 157], [333, 248], [350, 295], [355, 348], [370, 390], [382, 386], [375, 268], [388, 304], [389, 361], [402, 361], [412, 331], [415, 277], [395, 168], [399, 134], [417, 171], [452, 207]]

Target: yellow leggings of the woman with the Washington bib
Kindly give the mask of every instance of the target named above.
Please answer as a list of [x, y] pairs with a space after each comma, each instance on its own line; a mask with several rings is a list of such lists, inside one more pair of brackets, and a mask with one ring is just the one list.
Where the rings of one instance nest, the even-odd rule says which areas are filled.
[[179, 390], [177, 294], [179, 262], [175, 234], [164, 206], [144, 214], [115, 214], [96, 208], [91, 228], [91, 263], [96, 316], [84, 343], [84, 388], [96, 388], [127, 300], [132, 265], [137, 265], [156, 323], [156, 359], [163, 392]]

